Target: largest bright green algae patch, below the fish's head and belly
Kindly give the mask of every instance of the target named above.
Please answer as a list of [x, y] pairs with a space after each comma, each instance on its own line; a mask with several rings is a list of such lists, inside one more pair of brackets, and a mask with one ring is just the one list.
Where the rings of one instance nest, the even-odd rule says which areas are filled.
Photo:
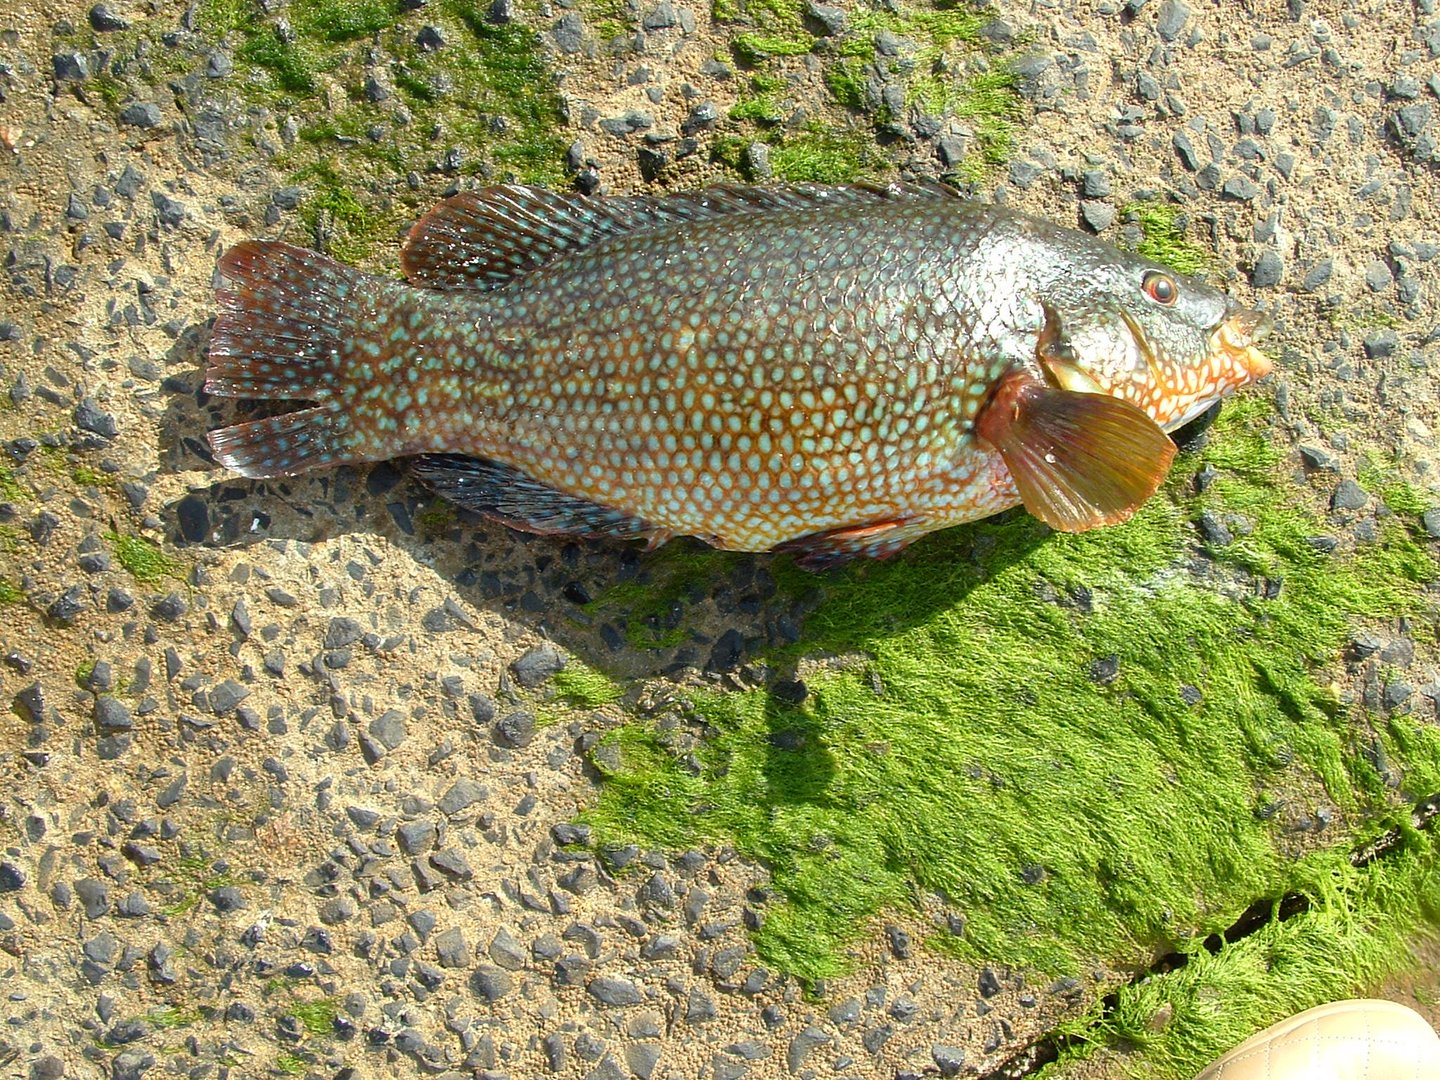
[[[698, 772], [664, 724], [612, 733], [586, 816], [599, 842], [708, 841], [763, 861], [778, 901], [756, 946], [809, 979], [842, 971], [857, 929], [916, 894], [966, 919], [932, 948], [1068, 973], [1303, 887], [1269, 806], [1390, 812], [1318, 671], [1351, 619], [1405, 611], [1437, 567], [1401, 521], [1349, 556], [1309, 544], [1322, 526], [1277, 480], [1266, 409], [1223, 418], [1128, 526], [1060, 536], [1012, 516], [832, 576], [802, 649], [776, 660], [848, 660], [799, 707], [694, 694], [713, 732]], [[1184, 478], [1201, 464], [1220, 480], [1197, 495]], [[1192, 566], [1202, 510], [1253, 528]], [[796, 595], [815, 585], [775, 573]], [[1440, 733], [1408, 730], [1392, 760], [1428, 793]]]

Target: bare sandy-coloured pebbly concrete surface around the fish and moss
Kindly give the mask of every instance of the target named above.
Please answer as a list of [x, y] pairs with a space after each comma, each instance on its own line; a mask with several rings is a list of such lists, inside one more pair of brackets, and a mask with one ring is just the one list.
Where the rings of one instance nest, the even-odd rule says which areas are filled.
[[[418, 49], [458, 48], [413, 7]], [[487, 26], [528, 20], [566, 72], [576, 187], [783, 174], [783, 141], [717, 143], [757, 99], [733, 27], [639, 7], [611, 36], [589, 9], [487, 9]], [[1371, 541], [1390, 511], [1356, 431], [1436, 491], [1436, 16], [1096, 7], [994, 7], [989, 39], [1028, 43], [1014, 71], [1032, 115], [979, 193], [1117, 240], [1130, 203], [1174, 200], [1220, 276], [1247, 302], [1263, 289], [1280, 325], [1274, 438], [1326, 517], [1316, 550]], [[806, 33], [850, 33], [858, 10], [806, 4]], [[723, 848], [588, 847], [572, 822], [624, 707], [566, 704], [570, 658], [746, 685], [809, 606], [776, 595], [766, 557], [611, 615], [593, 598], [652, 582], [648, 556], [432, 514], [390, 465], [279, 481], [215, 468], [203, 432], [238, 415], [200, 389], [216, 255], [255, 235], [324, 242], [346, 207], [314, 209], [320, 180], [284, 164], [300, 120], [248, 104], [233, 42], [190, 19], [164, 3], [0, 16], [14, 481], [0, 492], [14, 593], [0, 608], [0, 975], [29, 1074], [965, 1076], [1115, 985], [1104, 969], [1063, 984], [937, 959], [923, 942], [943, 916], [901, 912], [818, 1001], [753, 952], [762, 867]], [[154, 52], [131, 40], [117, 73], [143, 20]], [[887, 63], [855, 73], [861, 137], [878, 127], [907, 176], [959, 179], [976, 132], [910, 109], [891, 68], [914, 66], [914, 42], [877, 50]], [[1214, 78], [1221, 58], [1231, 79]], [[763, 92], [786, 130], [837, 111], [808, 59], [785, 58], [783, 89]], [[141, 62], [154, 85], [135, 82]], [[396, 75], [373, 65], [360, 96], [395, 108]], [[446, 138], [413, 183], [390, 177], [416, 202], [474, 183]], [[1195, 524], [1197, 547], [1246, 528]], [[1356, 694], [1434, 721], [1433, 635], [1369, 634], [1345, 660]], [[1116, 677], [1107, 658], [1090, 674]], [[1308, 835], [1326, 815], [1308, 812]]]

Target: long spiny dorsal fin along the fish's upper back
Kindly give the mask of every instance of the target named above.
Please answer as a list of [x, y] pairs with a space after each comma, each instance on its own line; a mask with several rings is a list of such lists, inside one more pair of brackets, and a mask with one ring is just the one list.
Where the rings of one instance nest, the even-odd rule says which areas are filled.
[[956, 197], [926, 184], [720, 184], [664, 197], [588, 199], [543, 187], [503, 184], [462, 192], [439, 203], [410, 229], [400, 265], [416, 285], [492, 289], [566, 252], [625, 232], [661, 229], [729, 213], [804, 210], [881, 199]]

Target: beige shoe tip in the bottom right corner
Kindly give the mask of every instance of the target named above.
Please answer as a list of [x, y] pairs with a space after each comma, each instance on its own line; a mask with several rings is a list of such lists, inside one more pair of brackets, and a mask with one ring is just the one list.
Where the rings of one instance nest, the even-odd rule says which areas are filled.
[[1332, 1001], [1247, 1038], [1195, 1080], [1440, 1080], [1440, 1037], [1394, 1001]]

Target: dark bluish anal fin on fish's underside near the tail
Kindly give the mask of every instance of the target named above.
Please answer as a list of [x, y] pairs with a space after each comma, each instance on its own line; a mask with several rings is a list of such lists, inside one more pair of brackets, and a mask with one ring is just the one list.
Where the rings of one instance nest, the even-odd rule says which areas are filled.
[[442, 498], [524, 533], [647, 540], [651, 546], [670, 539], [661, 526], [566, 494], [488, 458], [425, 454], [410, 468]]

